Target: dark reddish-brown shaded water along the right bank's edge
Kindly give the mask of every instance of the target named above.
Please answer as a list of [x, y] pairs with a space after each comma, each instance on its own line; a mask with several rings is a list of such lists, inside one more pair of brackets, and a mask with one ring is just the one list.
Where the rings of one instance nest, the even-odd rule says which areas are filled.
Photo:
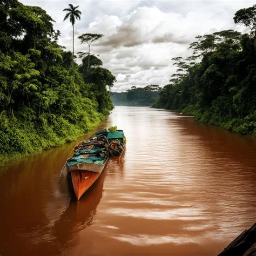
[[[181, 116], [182, 117], [182, 116]], [[224, 128], [195, 122], [193, 117], [173, 118], [166, 120], [169, 126], [180, 126], [179, 130], [184, 140], [198, 143], [198, 147], [204, 146], [212, 157], [225, 157], [227, 160], [240, 161], [241, 164], [255, 166], [256, 139], [241, 134], [230, 132]]]

